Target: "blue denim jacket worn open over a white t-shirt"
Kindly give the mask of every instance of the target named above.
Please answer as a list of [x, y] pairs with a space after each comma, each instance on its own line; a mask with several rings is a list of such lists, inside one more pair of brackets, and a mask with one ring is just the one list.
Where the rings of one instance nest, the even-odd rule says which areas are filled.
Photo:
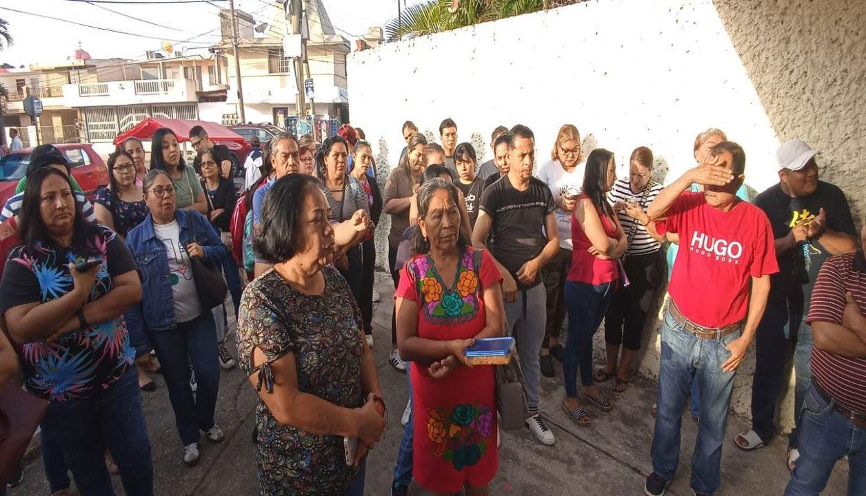
[[[190, 228], [196, 241], [204, 249], [204, 262], [220, 267], [228, 250], [204, 216], [194, 210], [175, 211], [180, 229], [180, 242], [192, 242]], [[168, 271], [165, 244], [153, 233], [153, 217], [145, 220], [126, 235], [126, 247], [139, 265], [141, 275], [141, 301], [126, 312], [126, 326], [130, 332], [170, 329], [177, 325], [174, 319], [174, 300]]]

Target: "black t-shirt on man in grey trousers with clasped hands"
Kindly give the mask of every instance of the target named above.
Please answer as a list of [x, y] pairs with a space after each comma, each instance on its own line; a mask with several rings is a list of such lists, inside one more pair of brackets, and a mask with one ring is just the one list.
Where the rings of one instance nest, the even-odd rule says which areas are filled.
[[547, 244], [545, 218], [556, 209], [550, 188], [531, 177], [526, 191], [515, 190], [511, 178], [505, 176], [484, 190], [480, 209], [493, 217], [493, 255], [508, 269], [517, 287], [527, 289], [540, 284], [539, 276], [532, 284], [521, 285], [517, 271]]

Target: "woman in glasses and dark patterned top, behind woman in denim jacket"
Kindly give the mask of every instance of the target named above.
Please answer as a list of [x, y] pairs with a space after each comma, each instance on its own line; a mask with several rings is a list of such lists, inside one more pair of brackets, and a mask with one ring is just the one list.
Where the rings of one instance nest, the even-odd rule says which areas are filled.
[[[135, 180], [135, 159], [126, 151], [114, 151], [108, 156], [108, 186], [101, 186], [94, 196], [96, 218], [113, 229], [121, 240], [147, 216], [147, 203], [142, 199], [141, 186]], [[147, 375], [147, 372], [160, 371], [159, 364], [151, 356], [153, 346], [143, 333], [132, 332], [129, 338], [135, 348], [139, 387], [143, 391], [155, 391], [157, 384]]]

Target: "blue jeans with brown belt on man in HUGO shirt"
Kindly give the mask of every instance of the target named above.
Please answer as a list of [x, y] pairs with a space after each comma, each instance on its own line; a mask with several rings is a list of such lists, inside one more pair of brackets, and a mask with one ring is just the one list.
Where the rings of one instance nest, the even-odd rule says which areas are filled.
[[731, 356], [727, 345], [740, 338], [740, 330], [724, 338], [701, 339], [674, 319], [670, 310], [662, 325], [662, 362], [658, 373], [658, 413], [652, 440], [653, 471], [671, 480], [679, 465], [682, 413], [692, 383], [701, 396], [698, 436], [692, 454], [691, 486], [712, 494], [719, 488], [721, 445], [727, 428], [727, 410], [734, 389], [734, 372], [721, 364]]

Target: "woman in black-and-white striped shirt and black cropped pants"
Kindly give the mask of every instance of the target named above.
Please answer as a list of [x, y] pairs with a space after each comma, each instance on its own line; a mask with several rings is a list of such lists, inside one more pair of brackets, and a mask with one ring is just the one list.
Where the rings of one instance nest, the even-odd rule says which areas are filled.
[[614, 377], [613, 391], [617, 393], [628, 387], [631, 360], [641, 347], [647, 311], [664, 274], [663, 237], [646, 214], [662, 190], [661, 184], [650, 179], [652, 165], [652, 151], [645, 146], [636, 148], [629, 160], [629, 177], [618, 180], [608, 194], [628, 240], [620, 261], [630, 284], [620, 285], [611, 298], [604, 318], [607, 364], [598, 370], [595, 380], [601, 383]]

